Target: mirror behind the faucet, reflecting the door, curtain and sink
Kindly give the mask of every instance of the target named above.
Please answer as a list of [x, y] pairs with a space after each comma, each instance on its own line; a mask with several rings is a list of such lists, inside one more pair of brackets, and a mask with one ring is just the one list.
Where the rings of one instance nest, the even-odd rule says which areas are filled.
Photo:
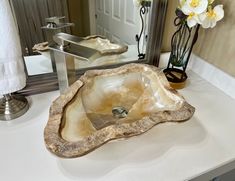
[[[87, 69], [113, 67], [130, 62], [146, 63], [145, 54], [147, 56], [150, 54], [150, 50], [146, 47], [152, 41], [150, 21], [153, 20], [153, 14], [156, 17], [158, 13], [165, 14], [166, 1], [147, 3], [144, 10], [137, 7], [134, 2], [133, 0], [11, 0], [29, 76], [27, 85], [37, 85], [36, 82], [39, 80], [43, 80], [47, 88], [49, 85], [55, 87], [57, 84], [57, 58], [51, 53], [53, 50], [50, 45], [55, 43], [53, 35], [60, 32], [80, 38], [75, 42], [76, 46], [79, 42], [79, 46], [88, 46], [87, 48], [96, 51], [104, 44], [106, 49], [124, 47], [125, 51], [102, 54], [92, 60], [84, 60], [85, 55], [74, 56], [72, 66], [77, 71], [77, 76]], [[154, 10], [153, 5], [159, 12]], [[162, 19], [159, 17], [162, 15], [156, 18], [156, 25], [162, 27], [164, 16]], [[154, 27], [155, 30], [156, 28]], [[91, 35], [101, 37], [87, 39]], [[67, 39], [63, 39], [63, 43], [64, 40], [67, 42]], [[58, 45], [58, 42], [56, 44]], [[74, 42], [69, 41], [69, 44]], [[82, 49], [81, 52], [85, 51]], [[71, 51], [69, 53], [71, 54]], [[42, 89], [41, 85], [37, 86], [38, 89]], [[35, 91], [31, 88], [29, 92]]]

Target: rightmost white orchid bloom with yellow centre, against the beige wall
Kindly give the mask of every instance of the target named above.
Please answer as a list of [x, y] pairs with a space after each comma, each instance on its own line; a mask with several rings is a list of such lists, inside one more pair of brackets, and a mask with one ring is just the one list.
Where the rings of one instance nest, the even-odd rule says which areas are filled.
[[224, 17], [223, 5], [217, 5], [214, 9], [209, 8], [208, 12], [199, 15], [200, 24], [203, 28], [214, 28], [217, 21]]

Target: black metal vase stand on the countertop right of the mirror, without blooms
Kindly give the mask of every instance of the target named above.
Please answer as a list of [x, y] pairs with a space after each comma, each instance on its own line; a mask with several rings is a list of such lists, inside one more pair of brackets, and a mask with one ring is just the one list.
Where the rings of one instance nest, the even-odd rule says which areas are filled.
[[[176, 12], [177, 14], [177, 12]], [[187, 79], [186, 68], [193, 50], [193, 47], [198, 38], [198, 31], [200, 25], [189, 28], [186, 18], [177, 14], [174, 24], [177, 26], [177, 31], [173, 34], [171, 39], [171, 54], [168, 61], [167, 68], [164, 73], [168, 81], [174, 84], [181, 84], [179, 87], [183, 88]]]

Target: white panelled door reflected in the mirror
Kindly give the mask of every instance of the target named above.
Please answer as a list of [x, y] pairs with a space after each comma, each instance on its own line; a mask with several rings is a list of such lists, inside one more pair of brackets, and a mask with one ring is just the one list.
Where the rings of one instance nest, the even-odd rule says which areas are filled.
[[141, 24], [133, 0], [96, 0], [95, 9], [97, 34], [115, 43], [136, 44]]

